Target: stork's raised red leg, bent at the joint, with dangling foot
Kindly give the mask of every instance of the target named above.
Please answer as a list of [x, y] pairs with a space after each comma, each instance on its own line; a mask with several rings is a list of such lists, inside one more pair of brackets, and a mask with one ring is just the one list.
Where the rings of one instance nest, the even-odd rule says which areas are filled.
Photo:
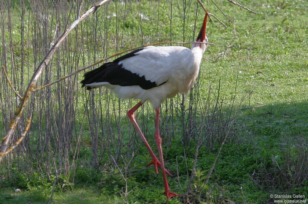
[[[137, 103], [132, 109], [130, 109], [127, 112], [128, 118], [129, 120], [132, 121], [132, 124], [134, 125], [134, 127], [136, 128], [136, 130], [138, 131], [142, 141], [144, 142], [145, 146], [147, 147], [148, 151], [150, 152], [150, 155], [152, 157], [152, 162], [148, 163], [147, 166], [154, 164], [155, 167], [155, 172], [156, 174], [158, 174], [158, 170], [157, 167], [161, 168], [160, 162], [158, 161], [157, 157], [155, 156], [154, 152], [152, 151], [147, 139], [144, 137], [143, 133], [141, 132], [136, 120], [135, 120], [135, 116], [134, 116], [134, 112], [142, 105], [141, 102]], [[161, 169], [165, 169], [165, 168], [161, 168]], [[169, 176], [172, 176], [166, 169], [165, 172], [166, 174], [168, 174]]]

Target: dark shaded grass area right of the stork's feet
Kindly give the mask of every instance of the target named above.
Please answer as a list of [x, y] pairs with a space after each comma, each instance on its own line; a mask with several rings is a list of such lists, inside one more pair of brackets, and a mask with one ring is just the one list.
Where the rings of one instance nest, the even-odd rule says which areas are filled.
[[[230, 135], [222, 148], [207, 186], [202, 186], [203, 178], [212, 167], [220, 144], [216, 143], [212, 150], [206, 144], [200, 148], [194, 186], [201, 188], [192, 189], [198, 196], [191, 199], [273, 203], [270, 194], [307, 197], [307, 107], [307, 102], [297, 102], [239, 110], [237, 134]], [[173, 155], [181, 155], [179, 149]], [[188, 151], [186, 156], [192, 157]], [[179, 171], [184, 174], [185, 169], [179, 167]]]

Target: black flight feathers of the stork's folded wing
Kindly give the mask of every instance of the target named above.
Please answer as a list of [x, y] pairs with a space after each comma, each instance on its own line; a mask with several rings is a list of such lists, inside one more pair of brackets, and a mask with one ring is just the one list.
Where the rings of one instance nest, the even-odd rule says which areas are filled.
[[[123, 55], [112, 62], [104, 63], [99, 68], [85, 73], [84, 79], [80, 82], [82, 84], [81, 87], [95, 82], [108, 82], [109, 84], [120, 86], [137, 85], [143, 89], [150, 89], [162, 85], [157, 85], [155, 82], [146, 80], [144, 76], [140, 77], [138, 74], [132, 73], [131, 71], [125, 69], [122, 64], [119, 65], [119, 61], [135, 56], [140, 50], [142, 49], [134, 50], [133, 52]], [[92, 87], [87, 87], [87, 90], [90, 90], [91, 88]]]

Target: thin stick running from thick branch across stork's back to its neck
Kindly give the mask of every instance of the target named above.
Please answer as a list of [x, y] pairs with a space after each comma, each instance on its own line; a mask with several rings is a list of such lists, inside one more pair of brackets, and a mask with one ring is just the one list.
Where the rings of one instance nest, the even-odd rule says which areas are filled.
[[[66, 79], [66, 78], [68, 78], [68, 77], [71, 77], [71, 76], [74, 75], [74, 74], [77, 74], [78, 72], [81, 72], [81, 71], [83, 71], [83, 70], [85, 70], [85, 69], [88, 69], [88, 68], [90, 68], [90, 67], [92, 67], [92, 66], [94, 66], [94, 65], [97, 65], [97, 64], [99, 64], [99, 63], [101, 63], [101, 62], [103, 62], [103, 61], [106, 61], [106, 60], [108, 60], [108, 59], [110, 59], [110, 58], [112, 58], [112, 57], [119, 56], [119, 55], [121, 55], [121, 54], [123, 54], [123, 53], [129, 52], [129, 51], [132, 51], [132, 50], [135, 50], [135, 49], [143, 48], [143, 47], [146, 47], [146, 46], [150, 46], [150, 45], [160, 45], [160, 44], [166, 44], [166, 43], [174, 43], [174, 44], [183, 44], [183, 45], [186, 45], [186, 44], [192, 44], [192, 43], [194, 43], [194, 42], [174, 42], [174, 41], [168, 41], [168, 42], [156, 42], [156, 43], [152, 43], [152, 44], [143, 45], [143, 46], [140, 46], [140, 47], [133, 47], [133, 48], [124, 50], [124, 51], [122, 51], [122, 52], [118, 52], [118, 53], [112, 54], [111, 56], [106, 57], [106, 58], [103, 58], [103, 59], [101, 59], [101, 60], [99, 60], [99, 61], [97, 61], [97, 62], [95, 62], [95, 63], [93, 63], [93, 64], [91, 64], [91, 65], [89, 65], [89, 66], [83, 67], [83, 68], [81, 68], [81, 69], [77, 69], [76, 71], [74, 71], [74, 72], [72, 72], [72, 73], [70, 73], [70, 74], [68, 74], [68, 75], [66, 75], [66, 76], [64, 76], [64, 77], [61, 77], [61, 78], [59, 78], [59, 79], [57, 79], [57, 80], [55, 80], [55, 81], [53, 81], [53, 82], [50, 82], [50, 83], [48, 83], [48, 84], [45, 84], [45, 85], [40, 86], [40, 87], [38, 87], [38, 88], [35, 88], [35, 89], [33, 89], [33, 91], [35, 92], [35, 91], [41, 90], [41, 89], [43, 89], [43, 88], [46, 88], [46, 87], [48, 87], [48, 86], [51, 86], [52, 84], [58, 83], [58, 82], [60, 82], [60, 81], [62, 81], [62, 80], [64, 80], [64, 79]], [[201, 42], [201, 43], [202, 43], [202, 42]], [[203, 43], [203, 44], [214, 45], [213, 43]]]

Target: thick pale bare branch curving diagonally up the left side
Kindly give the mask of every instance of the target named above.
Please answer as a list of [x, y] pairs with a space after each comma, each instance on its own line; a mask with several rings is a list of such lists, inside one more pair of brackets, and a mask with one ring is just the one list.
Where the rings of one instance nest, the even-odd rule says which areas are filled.
[[[14, 113], [13, 118], [11, 119], [10, 122], [10, 127], [6, 132], [6, 135], [3, 137], [2, 139], [2, 143], [1, 143], [1, 147], [0, 147], [0, 163], [3, 159], [3, 157], [6, 155], [6, 149], [7, 149], [7, 145], [10, 141], [11, 135], [14, 133], [15, 128], [17, 126], [17, 123], [19, 121], [19, 119], [22, 116], [22, 111], [23, 109], [26, 107], [26, 104], [30, 98], [30, 95], [33, 91], [33, 88], [37, 82], [37, 80], [39, 79], [39, 76], [42, 74], [43, 69], [48, 65], [49, 61], [51, 60], [51, 57], [54, 55], [55, 51], [57, 48], [59, 48], [60, 44], [64, 41], [64, 39], [67, 37], [67, 35], [71, 32], [72, 29], [74, 29], [76, 27], [76, 25], [78, 25], [81, 21], [83, 21], [83, 19], [85, 19], [87, 16], [89, 16], [92, 12], [96, 11], [96, 9], [99, 6], [102, 6], [103, 4], [109, 2], [110, 0], [103, 0], [100, 2], [95, 3], [94, 6], [92, 6], [89, 10], [87, 10], [86, 13], [84, 13], [82, 16], [80, 16], [80, 18], [76, 19], [71, 25], [70, 27], [65, 31], [65, 33], [63, 33], [55, 42], [54, 45], [52, 45], [51, 49], [49, 49], [47, 55], [45, 56], [45, 58], [43, 59], [43, 61], [41, 61], [41, 63], [39, 64], [38, 68], [34, 71], [34, 74], [32, 76], [32, 79], [30, 80], [30, 83], [25, 91], [24, 96], [22, 97], [22, 99], [20, 100], [16, 111]], [[17, 145], [16, 145], [17, 146]], [[10, 148], [11, 149], [11, 148]]]

